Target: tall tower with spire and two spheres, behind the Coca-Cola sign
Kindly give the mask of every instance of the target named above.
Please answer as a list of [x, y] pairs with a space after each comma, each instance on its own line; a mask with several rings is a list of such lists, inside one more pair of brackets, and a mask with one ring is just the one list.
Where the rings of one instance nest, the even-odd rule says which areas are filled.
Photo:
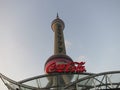
[[[68, 64], [73, 62], [73, 60], [68, 55], [66, 55], [66, 48], [65, 48], [64, 34], [63, 34], [65, 24], [59, 18], [58, 14], [56, 19], [52, 21], [51, 28], [54, 32], [54, 54], [51, 57], [49, 57], [45, 63], [45, 72], [47, 74], [59, 73], [59, 72], [55, 72], [54, 68], [53, 69], [49, 68], [49, 66], [52, 63], [56, 63], [56, 65], [57, 64], [60, 65], [60, 64]], [[47, 86], [48, 87], [56, 86], [56, 84], [59, 84], [60, 86], [64, 86], [70, 83], [71, 79], [72, 76], [65, 76], [65, 75], [62, 75], [59, 78], [49, 77], [48, 78], [49, 83], [47, 84]], [[58, 89], [54, 89], [54, 90], [58, 90]]]

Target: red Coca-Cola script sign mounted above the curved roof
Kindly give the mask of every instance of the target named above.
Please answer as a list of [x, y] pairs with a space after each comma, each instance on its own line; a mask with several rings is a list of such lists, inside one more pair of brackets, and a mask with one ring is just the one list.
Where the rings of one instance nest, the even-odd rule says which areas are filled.
[[46, 67], [46, 73], [81, 73], [86, 72], [85, 62], [69, 62], [66, 64], [58, 64], [52, 62]]

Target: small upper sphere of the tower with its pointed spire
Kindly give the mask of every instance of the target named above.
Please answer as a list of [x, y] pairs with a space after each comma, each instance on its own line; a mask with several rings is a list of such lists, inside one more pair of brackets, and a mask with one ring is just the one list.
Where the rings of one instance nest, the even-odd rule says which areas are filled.
[[59, 18], [58, 14], [55, 20], [52, 21], [52, 25], [51, 28], [53, 31], [60, 29], [60, 30], [64, 30], [65, 28], [65, 24], [64, 22]]

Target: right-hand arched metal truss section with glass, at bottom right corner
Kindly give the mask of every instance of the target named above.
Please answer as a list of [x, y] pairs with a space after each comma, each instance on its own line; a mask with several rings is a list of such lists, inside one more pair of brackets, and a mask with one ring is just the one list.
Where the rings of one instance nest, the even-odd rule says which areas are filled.
[[120, 88], [120, 71], [110, 71], [80, 78], [65, 89], [77, 85], [77, 90], [107, 90]]

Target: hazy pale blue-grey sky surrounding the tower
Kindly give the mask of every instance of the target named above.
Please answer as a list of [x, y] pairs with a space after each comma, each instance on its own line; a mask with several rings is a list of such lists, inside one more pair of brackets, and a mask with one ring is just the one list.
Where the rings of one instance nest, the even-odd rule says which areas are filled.
[[0, 0], [0, 73], [15, 81], [44, 74], [57, 12], [67, 55], [87, 72], [120, 70], [120, 0]]

